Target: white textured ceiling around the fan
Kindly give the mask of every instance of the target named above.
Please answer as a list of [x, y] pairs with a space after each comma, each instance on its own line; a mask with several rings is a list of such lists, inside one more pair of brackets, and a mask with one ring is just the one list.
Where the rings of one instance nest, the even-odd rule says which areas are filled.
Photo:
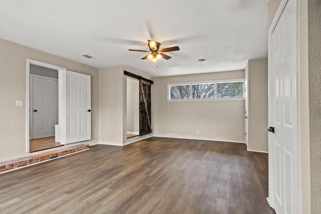
[[[0, 38], [150, 76], [238, 70], [267, 56], [267, 0], [0, 0]], [[156, 64], [128, 51], [148, 50], [147, 40], [181, 50]]]

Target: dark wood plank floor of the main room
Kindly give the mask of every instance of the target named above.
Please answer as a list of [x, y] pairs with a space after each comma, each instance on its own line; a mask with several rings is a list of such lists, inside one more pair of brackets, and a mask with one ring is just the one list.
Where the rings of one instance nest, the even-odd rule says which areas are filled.
[[274, 213], [268, 155], [152, 137], [0, 174], [0, 213]]

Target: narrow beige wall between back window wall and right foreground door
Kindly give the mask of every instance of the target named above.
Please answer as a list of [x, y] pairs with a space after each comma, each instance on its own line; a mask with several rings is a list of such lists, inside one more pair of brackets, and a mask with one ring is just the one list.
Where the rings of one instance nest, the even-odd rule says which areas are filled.
[[248, 61], [248, 142], [250, 151], [268, 152], [268, 63], [267, 58]]

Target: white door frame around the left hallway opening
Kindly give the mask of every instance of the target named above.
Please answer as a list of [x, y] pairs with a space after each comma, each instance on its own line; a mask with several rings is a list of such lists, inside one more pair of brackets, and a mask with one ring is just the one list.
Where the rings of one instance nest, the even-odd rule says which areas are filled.
[[26, 65], [26, 152], [30, 152], [29, 147], [30, 147], [30, 65], [37, 65], [37, 66], [41, 66], [41, 67], [46, 67], [46, 68], [51, 68], [51, 69], [55, 69], [58, 70], [59, 72], [59, 77], [58, 77], [58, 88], [59, 88], [59, 123], [62, 120], [62, 115], [61, 115], [61, 110], [60, 110], [60, 105], [61, 105], [61, 101], [62, 98], [60, 95], [60, 88], [62, 87], [62, 81], [60, 80], [60, 73], [62, 71], [66, 71], [66, 68], [63, 67], [59, 67], [59, 66], [55, 66], [55, 65], [51, 65], [48, 63], [43, 63], [43, 62], [39, 62], [36, 60], [31, 60], [31, 59], [27, 59], [27, 65]]

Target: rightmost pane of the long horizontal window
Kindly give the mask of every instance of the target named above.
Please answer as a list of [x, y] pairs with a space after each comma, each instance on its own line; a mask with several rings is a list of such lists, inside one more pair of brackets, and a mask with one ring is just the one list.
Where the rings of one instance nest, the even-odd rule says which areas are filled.
[[217, 97], [243, 97], [243, 81], [217, 83]]

